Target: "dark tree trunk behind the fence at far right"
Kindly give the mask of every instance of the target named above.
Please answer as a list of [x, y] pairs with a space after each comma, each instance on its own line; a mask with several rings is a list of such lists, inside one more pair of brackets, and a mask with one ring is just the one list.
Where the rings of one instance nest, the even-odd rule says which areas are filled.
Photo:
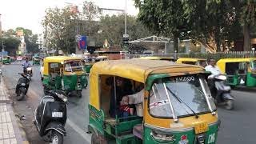
[[245, 23], [243, 26], [243, 50], [250, 51], [250, 26]]

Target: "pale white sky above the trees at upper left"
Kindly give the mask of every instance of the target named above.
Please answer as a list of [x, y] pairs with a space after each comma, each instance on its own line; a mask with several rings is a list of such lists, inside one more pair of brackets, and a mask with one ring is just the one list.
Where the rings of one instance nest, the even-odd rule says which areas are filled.
[[[137, 15], [134, 0], [90, 0], [101, 8], [124, 10], [127, 2], [127, 13]], [[24, 27], [34, 34], [42, 33], [42, 18], [46, 8], [63, 7], [69, 3], [82, 6], [84, 0], [1, 0], [0, 14], [2, 30]]]

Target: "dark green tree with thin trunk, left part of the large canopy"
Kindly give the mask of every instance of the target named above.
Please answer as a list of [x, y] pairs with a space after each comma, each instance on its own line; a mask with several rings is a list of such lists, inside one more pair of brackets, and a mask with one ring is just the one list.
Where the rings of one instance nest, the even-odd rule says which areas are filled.
[[182, 0], [155, 1], [134, 0], [138, 7], [138, 19], [150, 30], [174, 39], [174, 50], [178, 51], [178, 38], [189, 29]]

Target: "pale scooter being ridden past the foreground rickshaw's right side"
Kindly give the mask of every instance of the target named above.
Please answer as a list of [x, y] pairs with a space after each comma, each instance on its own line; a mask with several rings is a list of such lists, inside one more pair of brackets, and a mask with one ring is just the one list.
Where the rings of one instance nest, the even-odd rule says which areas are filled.
[[234, 108], [234, 98], [230, 94], [231, 87], [226, 85], [226, 75], [215, 75], [212, 81], [208, 79], [210, 92], [218, 105], [224, 105], [226, 110]]

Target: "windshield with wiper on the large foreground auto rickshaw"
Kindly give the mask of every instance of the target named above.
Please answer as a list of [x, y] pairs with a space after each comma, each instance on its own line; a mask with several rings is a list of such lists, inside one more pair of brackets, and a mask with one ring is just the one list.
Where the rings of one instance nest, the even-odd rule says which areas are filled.
[[209, 95], [206, 80], [198, 75], [158, 78], [150, 90], [150, 114], [170, 118], [209, 113], [216, 110]]

